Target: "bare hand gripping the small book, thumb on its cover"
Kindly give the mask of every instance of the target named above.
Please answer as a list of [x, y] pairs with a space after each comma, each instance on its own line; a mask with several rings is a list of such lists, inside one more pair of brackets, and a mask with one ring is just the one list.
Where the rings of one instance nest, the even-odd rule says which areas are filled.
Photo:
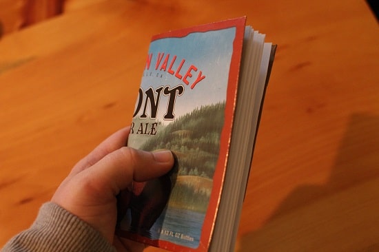
[[116, 196], [133, 180], [158, 178], [174, 165], [171, 151], [153, 153], [125, 147], [129, 133], [130, 127], [119, 130], [80, 160], [52, 197], [52, 202], [100, 231], [118, 251], [145, 246], [114, 235]]

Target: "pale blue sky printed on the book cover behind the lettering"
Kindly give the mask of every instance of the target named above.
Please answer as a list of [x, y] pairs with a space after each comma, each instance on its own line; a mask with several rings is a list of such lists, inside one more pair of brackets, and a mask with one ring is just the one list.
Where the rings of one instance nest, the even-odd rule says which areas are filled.
[[[226, 28], [208, 32], [193, 32], [182, 38], [165, 38], [152, 41], [149, 50], [149, 54], [153, 54], [152, 61], [150, 69], [144, 72], [144, 75], [148, 74], [148, 76], [143, 76], [141, 87], [145, 91], [149, 87], [153, 87], [155, 90], [160, 86], [169, 85], [170, 87], [175, 87], [183, 85], [185, 91], [176, 98], [174, 109], [176, 118], [191, 112], [195, 107], [225, 101], [235, 35], [236, 28]], [[165, 56], [170, 54], [167, 69], [166, 71], [160, 70], [165, 59], [165, 56], [163, 56], [158, 70], [155, 70], [158, 53], [163, 52]], [[181, 80], [175, 74], [167, 72], [174, 55], [176, 55], [176, 60], [171, 67], [173, 71], [176, 71], [181, 61], [185, 59], [185, 63], [178, 72], [181, 76], [185, 76], [191, 65], [197, 68], [197, 71], [192, 70], [192, 77], [187, 78], [189, 85], [183, 83], [183, 78]], [[200, 71], [205, 78], [199, 81], [194, 89], [191, 89], [190, 86], [194, 83]], [[161, 94], [158, 120], [163, 120], [167, 101], [167, 96]], [[145, 100], [143, 101], [144, 103]]]

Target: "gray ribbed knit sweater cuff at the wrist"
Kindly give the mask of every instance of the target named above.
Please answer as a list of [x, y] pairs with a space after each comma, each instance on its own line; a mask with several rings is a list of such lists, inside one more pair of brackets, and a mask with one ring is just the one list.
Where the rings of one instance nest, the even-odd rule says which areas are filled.
[[47, 251], [116, 251], [99, 231], [66, 211], [48, 202], [39, 210], [30, 229], [14, 236], [2, 252]]

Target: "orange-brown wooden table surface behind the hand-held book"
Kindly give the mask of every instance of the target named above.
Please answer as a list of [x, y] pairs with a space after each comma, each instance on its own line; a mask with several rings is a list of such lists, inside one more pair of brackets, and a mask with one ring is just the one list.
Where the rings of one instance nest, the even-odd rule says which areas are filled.
[[242, 15], [278, 51], [236, 251], [378, 251], [379, 30], [353, 0], [96, 1], [4, 36], [0, 246], [130, 123], [152, 34]]

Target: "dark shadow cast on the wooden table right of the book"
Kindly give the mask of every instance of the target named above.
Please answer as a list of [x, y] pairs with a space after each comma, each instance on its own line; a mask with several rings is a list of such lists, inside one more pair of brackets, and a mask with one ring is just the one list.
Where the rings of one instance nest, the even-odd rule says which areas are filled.
[[292, 191], [261, 229], [243, 235], [238, 252], [379, 251], [378, 149], [379, 117], [351, 116], [328, 182]]

